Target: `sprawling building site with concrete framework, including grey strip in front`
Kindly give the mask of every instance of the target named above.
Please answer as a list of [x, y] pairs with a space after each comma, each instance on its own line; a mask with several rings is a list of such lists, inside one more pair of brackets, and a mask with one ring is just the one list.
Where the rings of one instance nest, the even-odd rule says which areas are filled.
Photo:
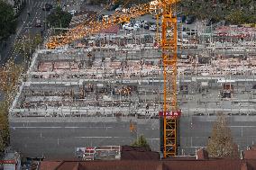
[[175, 155], [206, 146], [219, 112], [240, 150], [253, 145], [256, 29], [176, 31], [172, 96], [166, 96], [166, 64], [173, 60], [162, 57], [169, 50], [163, 53], [154, 31], [114, 25], [59, 49], [37, 50], [10, 108], [11, 145], [25, 157], [66, 158], [76, 157], [76, 148], [130, 145], [143, 135], [153, 151], [167, 150], [160, 112], [173, 110], [166, 108], [168, 97], [181, 112]]

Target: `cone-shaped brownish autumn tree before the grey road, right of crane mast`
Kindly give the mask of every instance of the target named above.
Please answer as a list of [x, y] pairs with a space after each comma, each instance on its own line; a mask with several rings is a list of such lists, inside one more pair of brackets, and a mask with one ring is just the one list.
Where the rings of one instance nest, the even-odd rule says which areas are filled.
[[222, 113], [217, 115], [206, 150], [211, 157], [237, 158], [239, 156], [237, 145], [233, 142], [231, 130]]

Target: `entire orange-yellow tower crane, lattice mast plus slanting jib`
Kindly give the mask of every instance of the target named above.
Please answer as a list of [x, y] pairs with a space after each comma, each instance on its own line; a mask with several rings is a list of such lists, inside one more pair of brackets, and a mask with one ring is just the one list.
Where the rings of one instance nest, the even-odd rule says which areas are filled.
[[[160, 112], [162, 119], [162, 142], [161, 151], [163, 157], [172, 157], [177, 155], [178, 146], [178, 117], [181, 112], [177, 103], [177, 16], [176, 4], [179, 0], [155, 0], [157, 8], [162, 16], [161, 32], [161, 59], [163, 64], [163, 112]], [[55, 49], [57, 46], [68, 44], [74, 40], [104, 30], [111, 25], [129, 22], [131, 18], [136, 18], [142, 14], [150, 13], [156, 10], [151, 7], [152, 3], [139, 4], [129, 9], [128, 13], [114, 13], [108, 21], [95, 22], [89, 24], [80, 24], [64, 35], [51, 37], [46, 44], [48, 49]], [[161, 143], [160, 142], [160, 143]]]

